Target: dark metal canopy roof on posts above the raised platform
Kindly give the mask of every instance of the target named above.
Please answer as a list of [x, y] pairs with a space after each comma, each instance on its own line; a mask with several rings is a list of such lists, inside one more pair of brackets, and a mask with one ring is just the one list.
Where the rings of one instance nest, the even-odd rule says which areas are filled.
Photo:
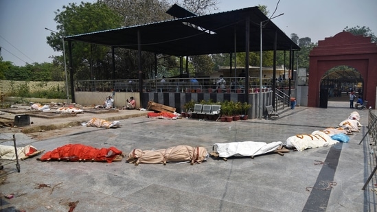
[[139, 32], [141, 51], [172, 56], [244, 52], [247, 41], [245, 39], [247, 17], [250, 20], [250, 51], [260, 51], [261, 21], [264, 21], [263, 51], [274, 49], [275, 32], [277, 50], [291, 48], [299, 50], [299, 47], [272, 21], [269, 21], [258, 7], [67, 36], [65, 40], [136, 50]]

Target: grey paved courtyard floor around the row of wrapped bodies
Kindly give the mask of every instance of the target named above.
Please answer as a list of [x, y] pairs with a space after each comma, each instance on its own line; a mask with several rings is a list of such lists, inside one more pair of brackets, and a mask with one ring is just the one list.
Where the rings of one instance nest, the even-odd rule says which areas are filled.
[[[130, 112], [132, 111], [132, 112]], [[148, 119], [140, 111], [119, 110], [100, 118], [120, 120], [115, 129], [82, 128], [81, 132], [34, 141], [16, 133], [17, 145], [32, 144], [53, 150], [67, 143], [96, 148], [115, 146], [126, 153], [133, 148], [152, 150], [175, 145], [203, 146], [233, 141], [283, 141], [295, 134], [336, 127], [354, 111], [348, 102], [329, 102], [326, 109], [297, 107], [279, 119], [198, 121]], [[330, 147], [264, 154], [251, 158], [209, 158], [201, 164], [140, 164], [40, 162], [35, 158], [4, 166], [0, 182], [1, 211], [376, 211], [376, 178], [362, 190], [376, 166], [366, 136], [367, 110], [358, 110], [363, 127], [349, 143]], [[137, 113], [137, 114], [134, 114]], [[96, 115], [97, 116], [97, 115]], [[99, 115], [98, 115], [99, 116]], [[80, 115], [60, 122], [32, 119], [35, 126], [80, 123]], [[129, 117], [133, 117], [129, 119]], [[121, 119], [122, 118], [122, 119]], [[41, 121], [41, 122], [40, 122]], [[49, 122], [49, 123], [47, 123]], [[58, 123], [57, 123], [58, 122]], [[0, 139], [12, 138], [1, 133]], [[8, 141], [10, 142], [10, 141]], [[358, 143], [361, 142], [361, 145]], [[3, 143], [2, 143], [3, 144]], [[12, 143], [8, 143], [12, 144]], [[38, 189], [38, 185], [48, 187]], [[3, 195], [14, 193], [14, 198]]]

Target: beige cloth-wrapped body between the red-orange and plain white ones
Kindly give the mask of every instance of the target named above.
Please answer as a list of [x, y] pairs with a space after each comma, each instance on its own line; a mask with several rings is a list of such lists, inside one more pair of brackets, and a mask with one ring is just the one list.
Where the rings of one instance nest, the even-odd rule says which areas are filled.
[[168, 149], [161, 150], [140, 150], [134, 149], [128, 154], [128, 163], [179, 163], [190, 162], [201, 163], [207, 160], [209, 154], [203, 147], [192, 147], [189, 145], [177, 145]]

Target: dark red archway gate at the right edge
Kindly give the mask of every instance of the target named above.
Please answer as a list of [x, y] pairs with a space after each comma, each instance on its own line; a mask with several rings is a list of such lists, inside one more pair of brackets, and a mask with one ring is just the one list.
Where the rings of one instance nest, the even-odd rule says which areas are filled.
[[340, 32], [332, 38], [319, 40], [310, 51], [308, 106], [319, 106], [321, 78], [326, 71], [339, 65], [357, 69], [364, 79], [364, 99], [376, 108], [377, 45], [369, 37]]

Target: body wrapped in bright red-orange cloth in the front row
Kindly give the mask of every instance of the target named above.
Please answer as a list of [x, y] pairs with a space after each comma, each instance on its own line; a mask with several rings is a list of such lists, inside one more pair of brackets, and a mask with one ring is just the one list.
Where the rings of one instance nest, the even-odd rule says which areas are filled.
[[46, 152], [41, 161], [95, 161], [113, 162], [115, 156], [122, 154], [117, 148], [93, 148], [82, 144], [67, 144]]

